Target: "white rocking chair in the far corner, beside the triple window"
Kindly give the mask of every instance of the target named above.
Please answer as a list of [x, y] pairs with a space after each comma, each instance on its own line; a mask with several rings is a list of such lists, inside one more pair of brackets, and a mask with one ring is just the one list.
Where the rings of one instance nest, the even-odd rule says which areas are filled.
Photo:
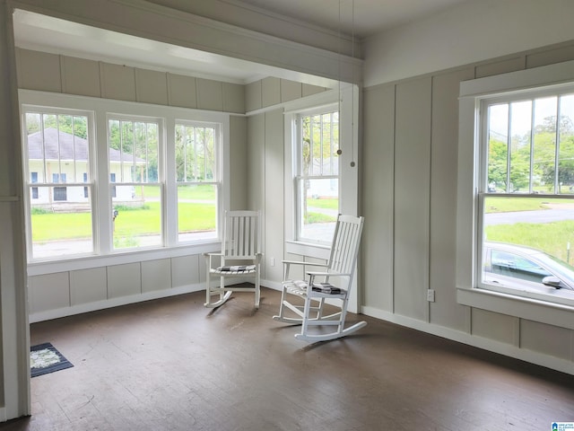
[[[259, 308], [261, 234], [259, 211], [227, 211], [223, 225], [222, 252], [204, 253], [206, 263], [205, 303], [215, 308], [225, 303], [232, 292], [255, 293], [255, 308]], [[214, 259], [215, 258], [215, 259]], [[214, 261], [219, 258], [219, 265]], [[213, 278], [219, 278], [219, 285], [213, 286]], [[225, 286], [226, 277], [250, 277], [253, 286]]]

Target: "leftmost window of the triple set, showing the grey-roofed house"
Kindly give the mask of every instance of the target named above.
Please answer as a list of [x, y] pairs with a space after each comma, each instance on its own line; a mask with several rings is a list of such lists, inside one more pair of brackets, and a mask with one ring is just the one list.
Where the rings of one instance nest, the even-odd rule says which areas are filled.
[[32, 256], [91, 253], [91, 114], [30, 107], [23, 129]]

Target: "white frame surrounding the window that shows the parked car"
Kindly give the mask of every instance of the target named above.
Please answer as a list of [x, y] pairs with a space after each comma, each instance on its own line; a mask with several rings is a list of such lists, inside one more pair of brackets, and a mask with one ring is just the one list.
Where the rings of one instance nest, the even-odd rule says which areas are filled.
[[548, 295], [484, 288], [480, 283], [482, 256], [483, 183], [477, 167], [484, 158], [480, 145], [481, 103], [504, 94], [566, 88], [573, 84], [574, 61], [490, 76], [460, 84], [457, 189], [457, 301], [562, 328], [574, 329], [574, 302], [557, 303]]

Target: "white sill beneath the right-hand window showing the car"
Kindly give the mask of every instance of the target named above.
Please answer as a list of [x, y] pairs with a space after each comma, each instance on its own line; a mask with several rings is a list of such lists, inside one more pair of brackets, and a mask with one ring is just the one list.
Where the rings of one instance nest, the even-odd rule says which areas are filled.
[[574, 330], [574, 307], [485, 289], [457, 288], [457, 303]]

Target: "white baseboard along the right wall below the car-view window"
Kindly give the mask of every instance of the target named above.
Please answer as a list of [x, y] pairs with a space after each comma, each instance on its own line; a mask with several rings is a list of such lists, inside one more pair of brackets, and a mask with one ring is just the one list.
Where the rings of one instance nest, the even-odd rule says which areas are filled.
[[560, 357], [544, 355], [533, 350], [511, 346], [492, 339], [484, 339], [467, 332], [433, 325], [425, 321], [418, 321], [410, 317], [386, 312], [384, 310], [378, 310], [373, 307], [362, 307], [361, 312], [367, 316], [380, 319], [381, 321], [390, 321], [391, 323], [396, 323], [413, 330], [420, 330], [444, 339], [452, 339], [453, 341], [457, 341], [468, 346], [483, 348], [484, 350], [488, 350], [493, 353], [514, 357], [515, 359], [520, 359], [531, 364], [545, 366], [546, 368], [551, 368], [552, 370], [560, 371], [561, 373], [574, 375], [574, 363], [566, 359], [561, 359]]

